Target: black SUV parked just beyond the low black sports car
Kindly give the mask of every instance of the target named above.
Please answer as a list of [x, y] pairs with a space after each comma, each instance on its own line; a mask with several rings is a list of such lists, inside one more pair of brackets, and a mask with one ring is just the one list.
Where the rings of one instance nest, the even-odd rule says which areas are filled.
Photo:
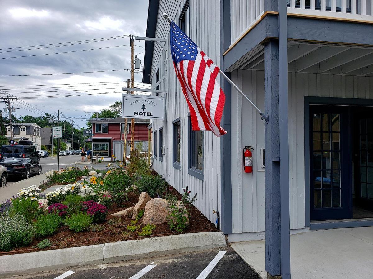
[[40, 156], [36, 152], [36, 147], [32, 141], [19, 141], [19, 144], [1, 146], [0, 160], [6, 158], [30, 158], [39, 163]]

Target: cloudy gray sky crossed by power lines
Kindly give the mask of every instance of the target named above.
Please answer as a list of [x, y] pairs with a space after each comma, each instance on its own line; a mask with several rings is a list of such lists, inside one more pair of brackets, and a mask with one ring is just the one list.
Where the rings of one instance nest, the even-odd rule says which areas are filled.
[[[1, 0], [0, 6], [0, 96], [8, 93], [19, 97], [13, 102], [19, 108], [15, 112], [17, 117], [40, 116], [60, 109], [69, 121], [75, 121], [76, 127], [83, 127], [85, 118], [90, 117], [86, 112], [108, 108], [120, 100], [121, 87], [126, 84], [113, 82], [131, 78], [129, 71], [4, 76], [130, 69], [131, 49], [125, 35], [145, 36], [147, 0]], [[125, 37], [76, 42], [116, 36]], [[73, 45], [58, 44], [66, 42]], [[117, 47], [120, 45], [125, 46]], [[135, 41], [135, 54], [142, 63], [144, 45], [143, 41]], [[52, 54], [92, 48], [103, 49]], [[29, 57], [9, 58], [18, 56]], [[135, 81], [141, 80], [142, 73], [136, 73]], [[137, 82], [136, 87], [146, 87]], [[87, 95], [103, 92], [116, 93]], [[85, 96], [71, 96], [77, 94]]]

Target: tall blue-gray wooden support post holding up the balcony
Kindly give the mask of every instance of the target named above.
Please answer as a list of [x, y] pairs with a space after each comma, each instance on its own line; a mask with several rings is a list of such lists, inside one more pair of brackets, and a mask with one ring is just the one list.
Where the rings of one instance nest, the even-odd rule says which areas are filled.
[[279, 40], [264, 47], [264, 124], [266, 161], [266, 271], [268, 278], [290, 278], [289, 140], [286, 1], [266, 1], [278, 9]]

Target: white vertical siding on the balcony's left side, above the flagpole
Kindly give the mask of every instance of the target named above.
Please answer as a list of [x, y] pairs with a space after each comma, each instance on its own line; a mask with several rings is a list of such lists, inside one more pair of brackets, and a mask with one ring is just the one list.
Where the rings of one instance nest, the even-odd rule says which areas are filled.
[[264, 0], [231, 0], [231, 44], [233, 44], [264, 11]]

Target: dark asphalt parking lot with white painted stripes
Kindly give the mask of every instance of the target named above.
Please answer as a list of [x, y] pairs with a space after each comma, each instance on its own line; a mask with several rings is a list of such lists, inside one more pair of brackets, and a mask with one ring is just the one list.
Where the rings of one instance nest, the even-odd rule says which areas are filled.
[[74, 266], [49, 273], [41, 272], [10, 278], [260, 279], [260, 276], [231, 247], [227, 246], [141, 260]]

